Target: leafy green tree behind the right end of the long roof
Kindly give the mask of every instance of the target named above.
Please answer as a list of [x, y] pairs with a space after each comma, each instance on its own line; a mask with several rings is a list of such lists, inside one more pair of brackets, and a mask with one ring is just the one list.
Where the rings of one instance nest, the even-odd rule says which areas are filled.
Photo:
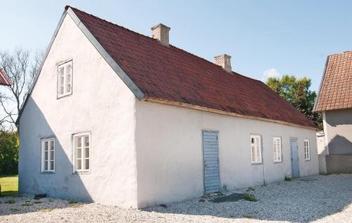
[[313, 112], [315, 91], [309, 90], [312, 81], [307, 77], [297, 79], [295, 76], [284, 75], [282, 78], [270, 77], [266, 84], [284, 97], [296, 109], [313, 121], [317, 128], [322, 130], [322, 115]]

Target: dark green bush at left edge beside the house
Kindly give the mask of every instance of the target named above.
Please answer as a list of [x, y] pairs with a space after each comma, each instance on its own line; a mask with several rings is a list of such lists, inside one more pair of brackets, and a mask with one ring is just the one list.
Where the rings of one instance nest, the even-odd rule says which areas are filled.
[[0, 130], [0, 175], [18, 173], [18, 134]]

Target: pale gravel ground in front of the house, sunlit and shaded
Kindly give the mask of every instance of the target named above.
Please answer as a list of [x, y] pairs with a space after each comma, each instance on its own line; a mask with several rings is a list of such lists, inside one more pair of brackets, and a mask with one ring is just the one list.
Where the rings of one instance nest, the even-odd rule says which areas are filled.
[[[352, 175], [277, 182], [256, 187], [254, 194], [257, 202], [197, 198], [143, 210], [8, 196], [0, 198], [0, 222], [352, 222]], [[9, 199], [15, 203], [6, 203]]]

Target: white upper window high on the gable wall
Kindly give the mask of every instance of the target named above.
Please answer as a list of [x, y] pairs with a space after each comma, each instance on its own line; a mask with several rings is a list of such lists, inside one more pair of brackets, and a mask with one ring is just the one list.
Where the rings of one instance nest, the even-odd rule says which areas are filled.
[[72, 94], [72, 60], [58, 65], [58, 97]]

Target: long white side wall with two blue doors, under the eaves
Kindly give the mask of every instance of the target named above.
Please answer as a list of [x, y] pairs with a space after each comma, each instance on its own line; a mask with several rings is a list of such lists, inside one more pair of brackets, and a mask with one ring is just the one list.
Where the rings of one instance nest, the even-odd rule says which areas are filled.
[[[289, 138], [298, 137], [301, 176], [318, 174], [315, 130], [137, 101], [138, 207], [203, 195], [202, 130], [219, 131], [222, 189], [283, 180], [291, 175]], [[251, 165], [250, 134], [262, 135], [264, 165]], [[272, 137], [282, 137], [282, 163], [273, 162]], [[303, 140], [310, 140], [310, 161]], [[263, 177], [265, 167], [265, 177]]]

